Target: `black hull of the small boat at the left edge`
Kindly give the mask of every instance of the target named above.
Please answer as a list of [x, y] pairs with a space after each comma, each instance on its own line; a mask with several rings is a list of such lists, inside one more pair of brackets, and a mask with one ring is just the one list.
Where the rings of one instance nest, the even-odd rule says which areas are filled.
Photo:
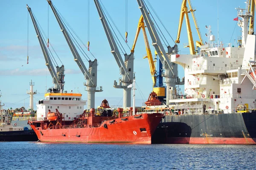
[[34, 130], [0, 132], [0, 141], [38, 141]]

